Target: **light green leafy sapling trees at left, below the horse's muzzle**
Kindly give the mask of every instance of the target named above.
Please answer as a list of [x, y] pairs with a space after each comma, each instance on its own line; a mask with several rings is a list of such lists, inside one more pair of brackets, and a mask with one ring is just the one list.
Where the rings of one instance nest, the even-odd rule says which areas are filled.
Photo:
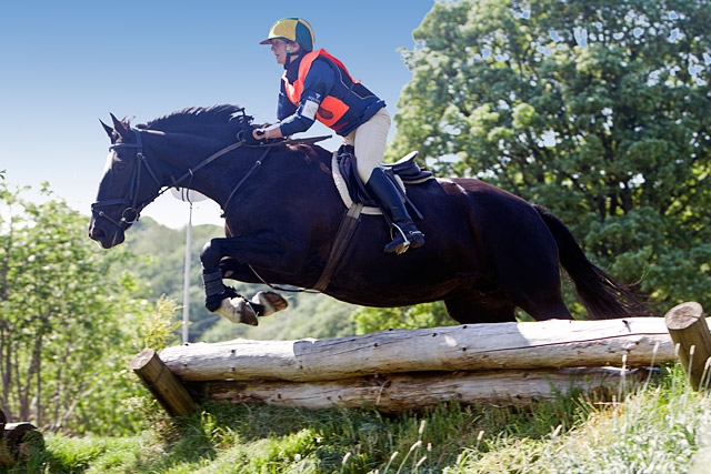
[[86, 235], [87, 218], [0, 182], [0, 407], [44, 430], [117, 433], [134, 426], [140, 393], [128, 362], [154, 316], [131, 256]]

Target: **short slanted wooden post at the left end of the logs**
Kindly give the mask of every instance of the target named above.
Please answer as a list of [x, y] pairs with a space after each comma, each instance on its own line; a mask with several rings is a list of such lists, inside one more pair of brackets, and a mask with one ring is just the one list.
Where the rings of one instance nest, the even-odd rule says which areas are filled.
[[194, 412], [192, 396], [154, 350], [141, 351], [133, 357], [130, 367], [170, 416], [186, 416]]

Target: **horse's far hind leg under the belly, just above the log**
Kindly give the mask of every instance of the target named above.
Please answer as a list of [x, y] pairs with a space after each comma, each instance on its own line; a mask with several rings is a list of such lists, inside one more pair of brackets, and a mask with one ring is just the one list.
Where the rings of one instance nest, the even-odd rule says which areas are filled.
[[447, 313], [460, 324], [514, 322], [515, 306], [491, 296], [463, 294], [444, 300]]

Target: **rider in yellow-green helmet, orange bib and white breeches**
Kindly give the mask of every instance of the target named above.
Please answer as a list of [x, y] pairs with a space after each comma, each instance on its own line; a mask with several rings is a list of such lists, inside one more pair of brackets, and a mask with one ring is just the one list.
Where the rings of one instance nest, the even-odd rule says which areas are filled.
[[278, 139], [307, 131], [319, 120], [343, 137], [357, 155], [358, 174], [394, 229], [385, 252], [403, 253], [424, 245], [420, 232], [394, 184], [383, 172], [390, 129], [385, 102], [349, 74], [341, 61], [320, 49], [313, 51], [313, 30], [301, 18], [283, 18], [260, 44], [271, 44], [284, 74], [279, 93], [279, 122], [256, 129], [257, 140]]

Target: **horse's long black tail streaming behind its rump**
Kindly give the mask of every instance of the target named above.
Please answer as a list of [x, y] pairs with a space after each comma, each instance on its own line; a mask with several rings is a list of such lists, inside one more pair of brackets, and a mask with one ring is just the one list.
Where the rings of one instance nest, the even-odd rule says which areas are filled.
[[565, 224], [544, 208], [535, 204], [533, 208], [553, 234], [560, 264], [573, 281], [578, 299], [591, 319], [650, 314], [645, 305], [634, 296], [630, 285], [618, 282], [588, 260]]

